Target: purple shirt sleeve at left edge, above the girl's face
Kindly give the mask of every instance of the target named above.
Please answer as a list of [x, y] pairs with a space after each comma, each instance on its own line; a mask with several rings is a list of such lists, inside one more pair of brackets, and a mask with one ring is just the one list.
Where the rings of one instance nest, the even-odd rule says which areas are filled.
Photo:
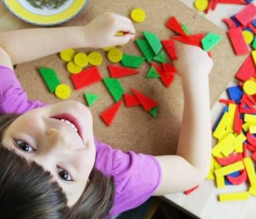
[[48, 105], [38, 100], [29, 100], [12, 69], [0, 66], [0, 79], [0, 113], [22, 114]]

